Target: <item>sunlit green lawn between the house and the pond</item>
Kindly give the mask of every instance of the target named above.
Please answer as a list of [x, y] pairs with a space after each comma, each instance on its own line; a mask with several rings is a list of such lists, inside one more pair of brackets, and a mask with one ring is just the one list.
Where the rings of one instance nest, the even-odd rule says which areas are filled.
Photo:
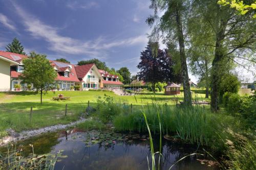
[[[70, 101], [53, 101], [53, 96], [63, 94], [70, 97]], [[151, 103], [152, 98], [168, 104], [174, 104], [175, 99], [182, 100], [183, 95], [168, 96], [163, 93], [146, 93], [136, 96], [118, 96], [109, 91], [49, 91], [43, 95], [43, 103], [40, 105], [40, 94], [34, 92], [2, 92], [0, 93], [0, 130], [7, 128], [16, 131], [37, 129], [56, 124], [67, 124], [79, 118], [88, 101], [95, 106], [99, 96], [111, 95], [113, 98], [126, 104], [133, 104], [133, 109], [142, 104]], [[204, 94], [194, 95], [194, 98], [205, 100]], [[65, 117], [65, 107], [68, 104], [68, 114]], [[30, 123], [30, 107], [33, 107], [32, 122]]]

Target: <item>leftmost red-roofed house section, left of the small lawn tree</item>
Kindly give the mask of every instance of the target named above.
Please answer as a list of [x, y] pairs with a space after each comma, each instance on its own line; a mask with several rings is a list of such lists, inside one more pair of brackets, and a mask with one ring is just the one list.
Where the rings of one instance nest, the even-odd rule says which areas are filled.
[[24, 67], [22, 60], [28, 56], [0, 51], [0, 91], [14, 89], [15, 84], [22, 80], [18, 78]]

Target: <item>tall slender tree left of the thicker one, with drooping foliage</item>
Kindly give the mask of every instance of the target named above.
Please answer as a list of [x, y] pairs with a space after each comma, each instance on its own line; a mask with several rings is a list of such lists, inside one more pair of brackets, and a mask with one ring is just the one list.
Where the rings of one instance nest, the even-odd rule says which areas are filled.
[[[165, 42], [176, 45], [176, 48], [179, 50], [180, 70], [184, 88], [184, 104], [190, 106], [192, 100], [185, 53], [185, 39], [187, 37], [184, 34], [187, 30], [186, 21], [190, 1], [151, 0], [151, 3], [150, 8], [154, 9], [155, 13], [146, 20], [150, 26], [156, 23], [151, 38], [158, 39], [159, 32], [162, 32]], [[163, 16], [158, 16], [159, 11], [165, 11]]]

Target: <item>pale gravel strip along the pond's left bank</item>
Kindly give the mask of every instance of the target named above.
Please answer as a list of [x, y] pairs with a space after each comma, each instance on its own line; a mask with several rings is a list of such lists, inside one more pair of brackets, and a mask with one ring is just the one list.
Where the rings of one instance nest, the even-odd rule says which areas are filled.
[[86, 118], [80, 118], [76, 122], [72, 122], [72, 123], [69, 123], [69, 124], [54, 125], [54, 126], [49, 126], [49, 127], [35, 129], [35, 130], [23, 131], [23, 132], [20, 132], [20, 133], [16, 133], [14, 130], [9, 129], [8, 132], [11, 133], [11, 135], [4, 137], [3, 142], [0, 140], [0, 142], [1, 142], [0, 147], [6, 145], [9, 142], [15, 142], [15, 141], [18, 141], [18, 140], [28, 139], [30, 137], [37, 136], [37, 135], [40, 135], [40, 134], [43, 134], [43, 133], [54, 132], [54, 131], [57, 131], [57, 130], [65, 129], [65, 128], [74, 126], [76, 124], [82, 123], [86, 120], [87, 120]]

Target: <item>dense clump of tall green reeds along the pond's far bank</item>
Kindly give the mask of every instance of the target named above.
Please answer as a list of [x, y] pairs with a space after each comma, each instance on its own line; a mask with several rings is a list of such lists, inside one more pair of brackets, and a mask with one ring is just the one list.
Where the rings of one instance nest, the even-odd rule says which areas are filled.
[[[207, 145], [220, 129], [219, 115], [214, 115], [202, 106], [181, 107], [154, 102], [143, 106], [143, 112], [153, 134], [160, 133], [161, 123], [161, 133], [178, 135], [189, 143]], [[118, 131], [147, 132], [140, 110], [118, 115], [114, 119], [114, 126]]]

